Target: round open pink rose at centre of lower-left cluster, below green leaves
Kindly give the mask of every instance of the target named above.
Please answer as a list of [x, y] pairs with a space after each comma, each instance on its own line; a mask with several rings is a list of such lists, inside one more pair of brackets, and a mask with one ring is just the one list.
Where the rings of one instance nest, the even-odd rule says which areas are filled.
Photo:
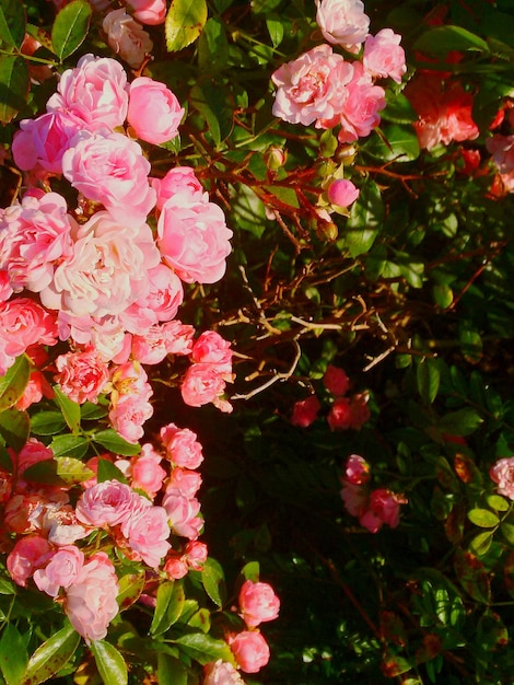
[[138, 497], [118, 480], [97, 483], [82, 492], [77, 502], [77, 519], [102, 529], [119, 525], [132, 515]]

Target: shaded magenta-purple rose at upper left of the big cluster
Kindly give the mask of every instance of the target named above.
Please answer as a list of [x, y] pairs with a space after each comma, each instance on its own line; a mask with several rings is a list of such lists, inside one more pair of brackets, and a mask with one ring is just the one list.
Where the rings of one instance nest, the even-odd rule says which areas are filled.
[[23, 119], [12, 141], [14, 163], [22, 171], [61, 174], [62, 154], [83, 127], [84, 121], [69, 112], [56, 111]]

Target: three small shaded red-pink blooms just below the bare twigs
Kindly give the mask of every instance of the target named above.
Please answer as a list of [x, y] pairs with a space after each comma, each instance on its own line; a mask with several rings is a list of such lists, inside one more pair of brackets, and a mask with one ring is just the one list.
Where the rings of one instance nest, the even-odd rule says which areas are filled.
[[[330, 409], [327, 415], [330, 430], [360, 430], [371, 416], [367, 408], [369, 394], [364, 392], [348, 396], [350, 379], [342, 369], [331, 364], [327, 367], [323, 384], [330, 393]], [[322, 403], [316, 395], [300, 399], [294, 403], [291, 423], [307, 428], [317, 419], [320, 409]]]

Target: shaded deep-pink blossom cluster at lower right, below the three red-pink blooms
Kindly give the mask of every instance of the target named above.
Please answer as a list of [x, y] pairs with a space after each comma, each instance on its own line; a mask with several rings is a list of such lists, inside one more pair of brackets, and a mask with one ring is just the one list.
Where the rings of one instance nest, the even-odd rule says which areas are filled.
[[400, 504], [406, 504], [408, 500], [404, 495], [386, 488], [369, 491], [366, 484], [370, 480], [370, 465], [362, 456], [352, 454], [348, 458], [341, 480], [344, 508], [352, 516], [359, 518], [363, 527], [371, 533], [378, 532], [384, 523], [392, 529], [397, 527]]

